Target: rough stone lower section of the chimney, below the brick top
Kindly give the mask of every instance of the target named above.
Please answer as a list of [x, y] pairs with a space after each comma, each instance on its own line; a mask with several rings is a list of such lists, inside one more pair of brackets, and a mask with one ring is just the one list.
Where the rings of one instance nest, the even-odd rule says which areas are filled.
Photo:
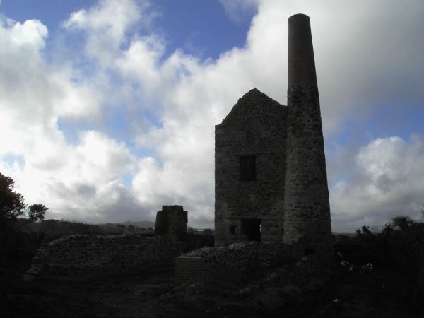
[[288, 110], [284, 240], [301, 236], [306, 248], [326, 257], [331, 221], [317, 86], [291, 86]]

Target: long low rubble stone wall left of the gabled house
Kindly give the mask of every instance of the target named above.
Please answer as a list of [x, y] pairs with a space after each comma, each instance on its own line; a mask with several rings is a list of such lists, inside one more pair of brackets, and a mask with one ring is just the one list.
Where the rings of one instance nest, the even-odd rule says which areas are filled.
[[31, 275], [99, 276], [172, 266], [184, 244], [168, 237], [141, 235], [72, 235], [42, 246]]

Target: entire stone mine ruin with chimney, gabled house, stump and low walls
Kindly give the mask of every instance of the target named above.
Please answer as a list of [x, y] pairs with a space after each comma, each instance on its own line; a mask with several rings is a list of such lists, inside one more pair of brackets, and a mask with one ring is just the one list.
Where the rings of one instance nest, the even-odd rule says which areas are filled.
[[[288, 20], [288, 105], [256, 88], [221, 124], [215, 144], [215, 247], [188, 254], [187, 211], [163, 206], [155, 235], [75, 235], [42, 247], [28, 273], [92, 276], [174, 264], [184, 283], [207, 266], [279, 266], [305, 281], [331, 261], [331, 220], [317, 76], [308, 16]], [[211, 236], [211, 235], [210, 235]], [[201, 245], [204, 246], [204, 245]], [[177, 257], [175, 259], [175, 257]]]

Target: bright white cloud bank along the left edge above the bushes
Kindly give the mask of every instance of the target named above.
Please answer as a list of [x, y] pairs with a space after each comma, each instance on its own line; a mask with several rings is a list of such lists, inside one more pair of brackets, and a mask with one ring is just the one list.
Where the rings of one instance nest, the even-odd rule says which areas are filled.
[[1, 20], [0, 33], [1, 61], [8, 61], [0, 72], [1, 172], [26, 201], [49, 206], [48, 217], [102, 222], [141, 211], [122, 179], [136, 167], [123, 143], [86, 131], [73, 146], [58, 129], [61, 118], [98, 117], [98, 90], [73, 81], [69, 64], [45, 61], [48, 33], [40, 21]]

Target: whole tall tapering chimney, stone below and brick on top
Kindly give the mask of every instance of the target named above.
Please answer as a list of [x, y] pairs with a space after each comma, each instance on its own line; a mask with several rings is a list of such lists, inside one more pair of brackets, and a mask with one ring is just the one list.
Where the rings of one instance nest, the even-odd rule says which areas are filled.
[[285, 242], [331, 257], [331, 218], [310, 18], [288, 19], [288, 121]]

